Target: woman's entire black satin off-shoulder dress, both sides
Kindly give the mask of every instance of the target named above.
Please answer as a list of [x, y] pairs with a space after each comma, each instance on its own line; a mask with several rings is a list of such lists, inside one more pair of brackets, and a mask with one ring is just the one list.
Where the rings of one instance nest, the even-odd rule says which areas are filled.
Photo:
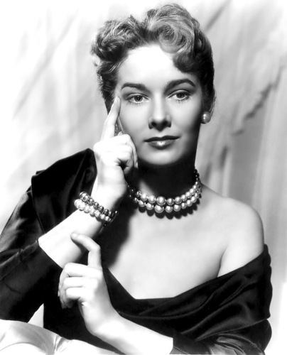
[[[77, 306], [62, 310], [57, 296], [61, 269], [38, 246], [39, 236], [75, 210], [80, 191], [91, 192], [95, 176], [90, 149], [33, 176], [1, 234], [0, 318], [27, 322], [44, 303], [45, 328], [119, 352], [87, 332]], [[264, 353], [271, 337], [267, 246], [242, 268], [170, 298], [134, 299], [103, 267], [114, 308], [132, 322], [173, 337], [171, 354]]]

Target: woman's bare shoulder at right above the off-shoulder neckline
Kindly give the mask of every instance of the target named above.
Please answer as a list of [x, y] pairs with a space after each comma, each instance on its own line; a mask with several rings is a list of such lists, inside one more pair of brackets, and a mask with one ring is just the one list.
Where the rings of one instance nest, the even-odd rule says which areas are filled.
[[263, 251], [261, 218], [248, 204], [223, 197], [206, 187], [208, 209], [214, 212], [226, 238], [219, 275], [244, 266]]

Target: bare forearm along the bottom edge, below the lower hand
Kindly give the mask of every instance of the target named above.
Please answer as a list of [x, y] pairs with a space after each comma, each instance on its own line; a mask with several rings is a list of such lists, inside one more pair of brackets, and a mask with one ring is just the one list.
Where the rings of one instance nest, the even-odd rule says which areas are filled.
[[101, 337], [124, 354], [170, 354], [173, 338], [126, 320], [118, 315], [103, 324], [94, 335]]

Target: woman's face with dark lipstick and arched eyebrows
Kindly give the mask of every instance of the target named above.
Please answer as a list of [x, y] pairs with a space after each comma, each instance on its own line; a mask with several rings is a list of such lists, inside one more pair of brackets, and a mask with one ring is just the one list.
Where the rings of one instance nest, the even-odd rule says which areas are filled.
[[173, 165], [195, 155], [202, 114], [197, 77], [180, 72], [159, 45], [129, 52], [114, 94], [121, 98], [124, 133], [148, 165]]

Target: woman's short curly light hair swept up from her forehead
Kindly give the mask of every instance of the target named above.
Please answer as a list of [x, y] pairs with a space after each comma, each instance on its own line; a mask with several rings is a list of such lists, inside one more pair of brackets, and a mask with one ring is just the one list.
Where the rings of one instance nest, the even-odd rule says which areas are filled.
[[178, 4], [151, 9], [141, 21], [133, 16], [122, 21], [106, 21], [99, 29], [91, 53], [99, 58], [97, 77], [107, 109], [114, 99], [119, 66], [129, 50], [152, 43], [173, 53], [173, 63], [181, 72], [197, 75], [203, 107], [212, 112], [215, 102], [212, 48], [198, 21]]

